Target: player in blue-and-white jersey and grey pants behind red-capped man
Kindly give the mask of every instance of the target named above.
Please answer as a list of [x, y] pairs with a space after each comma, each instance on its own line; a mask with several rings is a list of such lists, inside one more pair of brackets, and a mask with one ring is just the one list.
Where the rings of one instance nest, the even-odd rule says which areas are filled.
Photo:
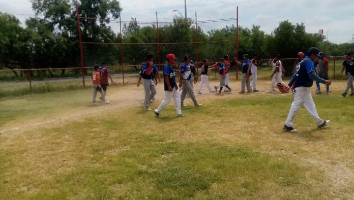
[[[201, 107], [203, 104], [198, 104], [197, 100], [195, 99], [193, 87], [192, 87], [192, 71], [191, 71], [191, 56], [187, 55], [184, 58], [185, 62], [181, 65], [181, 77], [180, 77], [180, 87], [182, 87], [182, 94], [181, 94], [181, 106], [186, 107], [183, 102], [186, 98], [187, 93], [191, 97], [195, 107]], [[196, 80], [196, 78], [195, 78]]]

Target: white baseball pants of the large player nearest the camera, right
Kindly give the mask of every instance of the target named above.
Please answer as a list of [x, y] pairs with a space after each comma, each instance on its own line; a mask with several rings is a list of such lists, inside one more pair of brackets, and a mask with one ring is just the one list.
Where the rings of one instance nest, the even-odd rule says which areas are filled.
[[323, 120], [319, 118], [316, 110], [315, 103], [313, 102], [310, 87], [297, 87], [295, 88], [294, 101], [292, 102], [288, 117], [286, 119], [285, 125], [293, 127], [293, 121], [296, 113], [299, 111], [301, 106], [304, 106], [315, 120], [317, 126], [323, 123]]

